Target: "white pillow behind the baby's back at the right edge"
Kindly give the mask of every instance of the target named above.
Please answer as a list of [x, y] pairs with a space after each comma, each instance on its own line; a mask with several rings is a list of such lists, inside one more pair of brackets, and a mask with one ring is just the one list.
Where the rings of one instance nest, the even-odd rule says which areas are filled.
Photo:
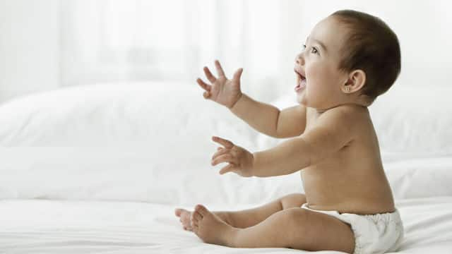
[[452, 155], [452, 88], [394, 85], [369, 107], [381, 150]]

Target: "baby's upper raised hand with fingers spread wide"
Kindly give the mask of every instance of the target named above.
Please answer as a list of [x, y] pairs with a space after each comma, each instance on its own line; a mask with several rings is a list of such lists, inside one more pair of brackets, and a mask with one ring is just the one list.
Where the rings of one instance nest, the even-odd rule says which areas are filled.
[[212, 75], [207, 66], [204, 67], [206, 78], [212, 85], [206, 84], [201, 78], [196, 79], [196, 82], [205, 90], [203, 93], [204, 98], [211, 99], [231, 109], [239, 101], [240, 97], [242, 97], [240, 76], [242, 75], [243, 68], [239, 68], [234, 73], [232, 80], [226, 78], [225, 72], [218, 60], [215, 60], [215, 68], [217, 69], [218, 78]]

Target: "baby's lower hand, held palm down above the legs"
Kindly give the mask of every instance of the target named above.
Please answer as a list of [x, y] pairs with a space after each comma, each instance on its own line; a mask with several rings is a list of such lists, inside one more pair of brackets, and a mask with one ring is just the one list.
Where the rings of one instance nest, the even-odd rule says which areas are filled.
[[220, 169], [220, 174], [231, 171], [244, 177], [253, 176], [254, 156], [251, 152], [220, 137], [213, 136], [212, 140], [224, 146], [218, 147], [218, 151], [212, 157], [212, 165], [229, 162], [226, 167]]

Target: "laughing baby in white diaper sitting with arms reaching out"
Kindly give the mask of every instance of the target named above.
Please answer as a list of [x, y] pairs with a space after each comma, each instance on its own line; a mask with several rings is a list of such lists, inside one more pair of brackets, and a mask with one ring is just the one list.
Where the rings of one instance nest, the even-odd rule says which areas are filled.
[[212, 165], [220, 174], [280, 176], [300, 171], [305, 193], [234, 212], [176, 209], [184, 229], [206, 243], [237, 248], [296, 248], [346, 253], [394, 251], [403, 224], [381, 162], [367, 107], [400, 73], [396, 34], [379, 18], [337, 11], [317, 23], [295, 58], [297, 106], [280, 111], [240, 90], [242, 68], [232, 80], [215, 61], [218, 77], [204, 68], [203, 96], [228, 107], [261, 133], [292, 138], [251, 153], [229, 140]]

